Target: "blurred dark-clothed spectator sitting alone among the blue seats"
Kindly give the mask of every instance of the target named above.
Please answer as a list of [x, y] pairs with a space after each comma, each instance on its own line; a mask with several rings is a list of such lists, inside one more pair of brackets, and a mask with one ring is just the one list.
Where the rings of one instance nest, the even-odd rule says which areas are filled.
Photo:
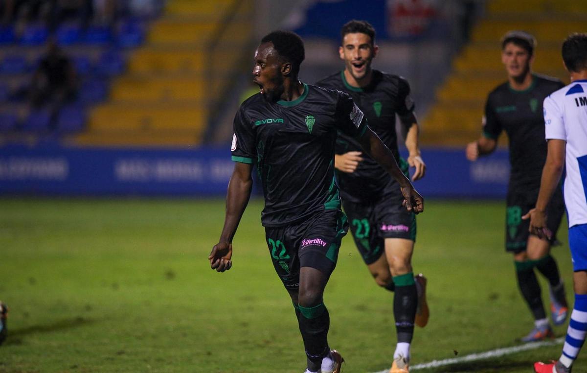
[[77, 79], [71, 59], [52, 40], [49, 41], [45, 56], [33, 74], [29, 100], [34, 109], [48, 106], [52, 123], [59, 109], [77, 96]]

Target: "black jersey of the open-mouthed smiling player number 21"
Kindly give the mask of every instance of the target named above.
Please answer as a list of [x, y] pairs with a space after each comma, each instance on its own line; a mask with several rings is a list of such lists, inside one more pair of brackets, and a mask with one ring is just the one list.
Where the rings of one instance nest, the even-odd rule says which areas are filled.
[[[344, 71], [341, 71], [322, 79], [316, 85], [348, 93], [365, 113], [369, 128], [389, 147], [400, 167], [407, 169], [406, 162], [399, 156], [396, 133], [396, 114], [402, 123], [416, 123], [410, 85], [405, 79], [374, 69], [369, 85], [357, 88], [349, 85]], [[362, 151], [362, 148], [355, 139], [339, 132], [336, 154], [350, 151]], [[387, 193], [390, 187], [397, 187], [393, 185], [393, 177], [369, 154], [363, 152], [362, 157], [364, 160], [359, 163], [355, 172], [336, 172], [344, 199], [355, 202], [373, 200]]]

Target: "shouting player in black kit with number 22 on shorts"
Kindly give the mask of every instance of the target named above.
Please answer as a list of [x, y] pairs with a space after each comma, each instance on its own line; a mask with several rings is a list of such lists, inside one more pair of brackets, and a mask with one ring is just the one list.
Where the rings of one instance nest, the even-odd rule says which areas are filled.
[[256, 163], [265, 197], [261, 223], [275, 271], [294, 303], [306, 372], [340, 372], [342, 357], [328, 346], [330, 319], [323, 303], [348, 230], [334, 180], [336, 131], [358, 139], [397, 180], [407, 210], [419, 213], [424, 204], [350, 96], [298, 80], [303, 59], [302, 40], [286, 31], [266, 35], [255, 52], [253, 75], [260, 90], [242, 103], [234, 119], [236, 163], [224, 227], [208, 259], [219, 272], [231, 268], [232, 238], [251, 194]]

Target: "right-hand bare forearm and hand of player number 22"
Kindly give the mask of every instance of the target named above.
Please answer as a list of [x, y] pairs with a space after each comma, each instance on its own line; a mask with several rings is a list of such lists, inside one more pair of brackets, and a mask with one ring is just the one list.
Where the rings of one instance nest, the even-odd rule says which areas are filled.
[[421, 213], [424, 211], [424, 199], [420, 196], [410, 183], [410, 179], [403, 174], [393, 153], [379, 137], [369, 128], [365, 130], [363, 136], [359, 138], [363, 150], [373, 157], [394, 179], [400, 184], [404, 196], [403, 205], [408, 211]]

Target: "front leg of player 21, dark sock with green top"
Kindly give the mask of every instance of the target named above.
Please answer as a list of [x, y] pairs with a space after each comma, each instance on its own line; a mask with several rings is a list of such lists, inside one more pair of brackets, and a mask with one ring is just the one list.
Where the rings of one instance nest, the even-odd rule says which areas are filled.
[[[400, 361], [399, 365], [402, 365], [402, 358], [406, 363], [409, 362], [410, 344], [414, 335], [418, 294], [411, 268], [413, 249], [414, 241], [412, 240], [385, 238], [385, 256], [395, 284], [393, 314], [396, 320], [397, 345], [393, 354], [394, 365], [398, 365], [398, 360]], [[407, 367], [405, 371], [408, 371]]]

